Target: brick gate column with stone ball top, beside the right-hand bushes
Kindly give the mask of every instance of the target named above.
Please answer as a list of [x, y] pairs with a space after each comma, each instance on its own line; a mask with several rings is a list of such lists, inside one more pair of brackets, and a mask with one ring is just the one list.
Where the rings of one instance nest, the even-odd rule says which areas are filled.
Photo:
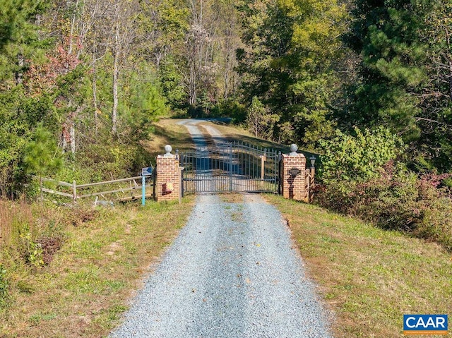
[[[291, 146], [291, 150], [292, 150]], [[292, 151], [290, 155], [283, 154], [281, 164], [281, 193], [284, 198], [304, 200], [307, 202], [306, 193], [306, 158], [303, 154]]]

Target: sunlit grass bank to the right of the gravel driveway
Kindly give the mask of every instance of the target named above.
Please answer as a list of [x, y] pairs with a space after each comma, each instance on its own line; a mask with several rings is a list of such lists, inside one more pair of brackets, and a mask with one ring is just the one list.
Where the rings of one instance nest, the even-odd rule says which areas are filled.
[[452, 315], [452, 255], [438, 244], [280, 196], [267, 199], [289, 222], [335, 313], [336, 338], [403, 337], [403, 314]]

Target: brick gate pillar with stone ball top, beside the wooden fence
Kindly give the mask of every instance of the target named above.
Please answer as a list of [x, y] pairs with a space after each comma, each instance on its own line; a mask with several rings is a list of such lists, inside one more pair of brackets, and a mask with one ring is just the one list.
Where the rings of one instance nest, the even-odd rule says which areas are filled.
[[157, 156], [157, 200], [179, 199], [181, 172], [179, 170], [179, 155], [171, 154], [171, 147], [165, 146], [165, 155]]

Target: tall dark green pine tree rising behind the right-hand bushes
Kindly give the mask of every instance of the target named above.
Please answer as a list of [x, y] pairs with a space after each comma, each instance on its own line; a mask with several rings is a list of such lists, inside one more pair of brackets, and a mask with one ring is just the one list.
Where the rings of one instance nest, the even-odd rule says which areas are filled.
[[359, 83], [352, 87], [349, 125], [384, 125], [413, 140], [420, 135], [416, 116], [427, 82], [425, 50], [419, 36], [427, 5], [422, 0], [358, 0], [347, 43], [361, 57]]

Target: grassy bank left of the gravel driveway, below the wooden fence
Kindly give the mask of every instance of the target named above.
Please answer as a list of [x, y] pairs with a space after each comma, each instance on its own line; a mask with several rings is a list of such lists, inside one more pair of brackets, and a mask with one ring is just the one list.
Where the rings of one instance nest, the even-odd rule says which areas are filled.
[[[0, 289], [6, 286], [8, 295], [0, 310], [0, 337], [105, 337], [186, 222], [192, 203], [192, 198], [182, 207], [129, 203], [94, 212], [30, 207], [26, 222], [10, 222], [8, 241], [1, 242]], [[32, 227], [16, 229], [24, 224]], [[48, 264], [40, 262], [42, 252], [35, 262], [34, 251], [21, 252], [24, 236], [38, 243], [49, 231], [58, 234], [61, 248]]]

